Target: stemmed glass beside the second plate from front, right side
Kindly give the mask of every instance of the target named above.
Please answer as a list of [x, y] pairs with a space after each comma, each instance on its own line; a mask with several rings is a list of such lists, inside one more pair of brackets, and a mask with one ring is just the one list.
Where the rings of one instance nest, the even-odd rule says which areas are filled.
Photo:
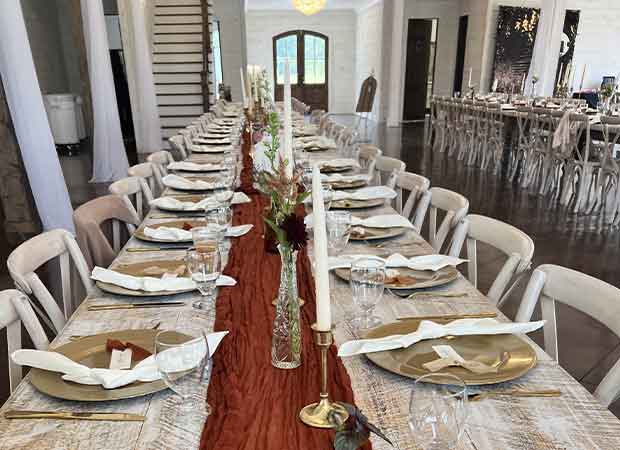
[[351, 291], [361, 317], [353, 320], [358, 329], [368, 329], [381, 324], [372, 314], [383, 296], [385, 288], [385, 262], [378, 258], [361, 258], [351, 263]]

